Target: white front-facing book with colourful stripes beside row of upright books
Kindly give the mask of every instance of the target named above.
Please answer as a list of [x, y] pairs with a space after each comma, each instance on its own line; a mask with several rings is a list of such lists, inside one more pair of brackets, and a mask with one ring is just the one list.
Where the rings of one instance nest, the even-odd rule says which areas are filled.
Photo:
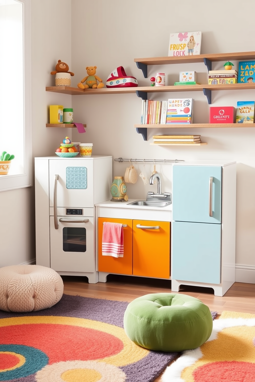
[[193, 99], [170, 98], [167, 104], [166, 125], [192, 123]]

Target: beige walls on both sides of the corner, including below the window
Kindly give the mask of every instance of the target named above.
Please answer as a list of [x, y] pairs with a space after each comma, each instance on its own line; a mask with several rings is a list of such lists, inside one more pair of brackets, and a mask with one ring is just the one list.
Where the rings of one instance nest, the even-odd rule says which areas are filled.
[[[67, 62], [75, 73], [72, 77], [74, 87], [86, 75], [86, 66], [91, 65], [97, 66], [97, 74], [104, 82], [117, 66], [123, 66], [127, 75], [138, 79], [140, 86], [149, 86], [149, 78], [161, 70], [166, 73], [166, 84], [171, 85], [179, 80], [179, 71], [186, 65], [148, 66], [148, 78], [145, 79], [133, 61], [138, 57], [167, 56], [170, 32], [202, 31], [201, 53], [255, 50], [252, 21], [239, 17], [237, 22], [233, 16], [232, 10], [237, 11], [239, 7], [240, 1], [237, 0], [232, 0], [231, 4], [219, 0], [213, 4], [198, 0], [179, 3], [169, 0], [94, 0], [92, 3], [85, 0], [32, 0], [33, 155], [51, 155], [63, 136], [69, 135], [73, 141], [93, 142], [93, 154], [110, 154], [114, 158], [236, 160], [236, 275], [237, 281], [255, 282], [253, 128], [189, 130], [190, 133], [201, 134], [202, 140], [208, 142], [207, 146], [150, 146], [153, 134], [164, 131], [148, 129], [148, 141], [143, 141], [141, 134], [136, 133], [133, 126], [140, 121], [141, 99], [135, 94], [71, 97], [45, 92], [45, 86], [54, 85], [54, 76], [49, 73], [54, 70], [58, 59]], [[212, 12], [214, 14], [210, 16]], [[255, 3], [250, 2], [249, 14], [254, 13]], [[218, 20], [215, 15], [218, 15]], [[238, 69], [238, 62], [233, 63]], [[221, 69], [223, 64], [214, 63], [213, 69]], [[203, 63], [189, 64], [188, 69], [197, 71], [198, 82], [206, 83]], [[182, 95], [175, 93], [176, 97]], [[206, 97], [200, 92], [188, 95], [195, 100], [194, 123], [208, 123]], [[169, 93], [151, 94], [150, 99], [165, 100], [169, 97]], [[254, 99], [254, 90], [212, 92], [214, 106], [236, 106], [237, 100]], [[87, 124], [86, 133], [45, 128], [50, 104], [72, 106], [75, 121]], [[178, 132], [185, 134], [187, 130], [179, 129]], [[114, 175], [123, 175], [126, 167], [127, 163], [114, 162]], [[141, 163], [135, 167], [138, 173], [143, 169]], [[148, 177], [152, 170], [153, 166], [146, 164]], [[171, 165], [157, 165], [156, 170], [162, 177], [162, 191], [171, 191]], [[154, 188], [156, 186], [144, 186], [138, 177], [135, 185], [128, 184], [128, 195], [130, 198], [143, 198], [148, 191], [155, 191]], [[31, 228], [34, 222], [33, 194], [33, 188], [0, 193], [6, 210], [14, 211], [15, 198], [15, 206], [23, 206], [19, 206], [18, 212], [24, 212], [19, 243], [12, 237], [13, 232], [20, 229], [20, 222], [13, 221], [12, 214], [7, 217], [11, 231], [1, 237], [1, 241], [5, 250], [9, 249], [10, 256], [3, 259], [0, 255], [0, 266], [20, 264], [35, 257], [34, 228]]]

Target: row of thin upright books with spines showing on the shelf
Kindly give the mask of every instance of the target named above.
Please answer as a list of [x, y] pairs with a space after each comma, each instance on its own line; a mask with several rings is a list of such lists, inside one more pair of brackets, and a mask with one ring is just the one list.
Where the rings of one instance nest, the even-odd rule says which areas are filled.
[[142, 100], [141, 124], [165, 125], [167, 101]]

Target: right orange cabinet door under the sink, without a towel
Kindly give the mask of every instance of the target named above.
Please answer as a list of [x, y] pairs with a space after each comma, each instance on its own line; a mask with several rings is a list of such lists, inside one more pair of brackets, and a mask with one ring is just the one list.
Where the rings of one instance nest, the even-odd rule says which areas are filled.
[[133, 220], [133, 275], [170, 277], [170, 222]]

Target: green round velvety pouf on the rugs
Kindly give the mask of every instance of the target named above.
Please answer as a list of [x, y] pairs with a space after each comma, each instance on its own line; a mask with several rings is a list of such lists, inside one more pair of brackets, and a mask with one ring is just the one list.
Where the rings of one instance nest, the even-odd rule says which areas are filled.
[[149, 350], [184, 351], [201, 346], [211, 335], [213, 318], [199, 299], [153, 293], [134, 299], [124, 313], [128, 338]]

